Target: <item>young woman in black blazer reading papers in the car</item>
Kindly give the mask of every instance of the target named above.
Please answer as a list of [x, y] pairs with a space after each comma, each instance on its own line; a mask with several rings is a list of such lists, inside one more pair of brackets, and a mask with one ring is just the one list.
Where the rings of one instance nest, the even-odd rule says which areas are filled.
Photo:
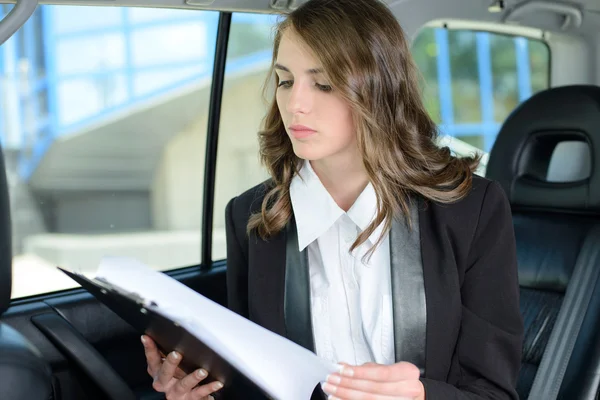
[[[476, 158], [436, 145], [392, 13], [310, 0], [277, 27], [272, 73], [271, 179], [226, 209], [229, 307], [342, 363], [331, 399], [517, 399], [510, 207]], [[145, 341], [167, 398], [217, 389]]]

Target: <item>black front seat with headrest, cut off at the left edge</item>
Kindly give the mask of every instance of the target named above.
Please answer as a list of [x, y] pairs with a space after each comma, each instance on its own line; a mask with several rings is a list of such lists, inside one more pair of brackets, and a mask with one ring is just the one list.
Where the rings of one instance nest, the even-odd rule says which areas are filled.
[[[12, 251], [8, 185], [0, 151], [0, 315], [10, 303]], [[0, 318], [0, 398], [48, 400], [51, 394], [50, 367], [39, 351]]]

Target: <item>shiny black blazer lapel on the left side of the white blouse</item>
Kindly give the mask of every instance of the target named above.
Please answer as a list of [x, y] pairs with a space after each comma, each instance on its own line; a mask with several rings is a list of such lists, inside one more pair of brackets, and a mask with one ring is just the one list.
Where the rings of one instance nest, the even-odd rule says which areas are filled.
[[284, 318], [288, 339], [314, 352], [310, 311], [308, 253], [298, 251], [298, 232], [292, 217], [286, 227]]

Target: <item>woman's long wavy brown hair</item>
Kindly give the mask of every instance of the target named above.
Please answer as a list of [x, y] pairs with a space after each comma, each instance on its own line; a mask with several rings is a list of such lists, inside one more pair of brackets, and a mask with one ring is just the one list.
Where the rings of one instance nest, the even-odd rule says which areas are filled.
[[[273, 66], [287, 30], [313, 51], [328, 83], [350, 106], [358, 147], [377, 194], [375, 219], [352, 249], [382, 222], [387, 231], [395, 216], [408, 217], [415, 195], [451, 203], [469, 192], [480, 156], [458, 158], [437, 145], [437, 127], [421, 100], [421, 76], [404, 32], [387, 6], [379, 0], [309, 0], [286, 15], [275, 27], [268, 75], [274, 87], [279, 80]], [[250, 217], [247, 229], [256, 229], [267, 239], [292, 216], [289, 188], [302, 165], [274, 95], [259, 142], [261, 161], [272, 179], [261, 210]]]

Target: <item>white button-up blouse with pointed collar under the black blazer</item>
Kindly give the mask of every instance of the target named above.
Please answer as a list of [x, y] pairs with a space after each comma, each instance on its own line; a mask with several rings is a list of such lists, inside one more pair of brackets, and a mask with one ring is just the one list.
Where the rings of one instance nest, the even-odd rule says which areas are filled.
[[369, 183], [344, 212], [305, 161], [300, 176], [292, 179], [290, 197], [299, 250], [308, 247], [317, 355], [334, 363], [393, 364], [389, 234], [366, 263], [362, 256], [377, 242], [382, 225], [352, 254], [349, 252], [376, 215], [373, 186]]

